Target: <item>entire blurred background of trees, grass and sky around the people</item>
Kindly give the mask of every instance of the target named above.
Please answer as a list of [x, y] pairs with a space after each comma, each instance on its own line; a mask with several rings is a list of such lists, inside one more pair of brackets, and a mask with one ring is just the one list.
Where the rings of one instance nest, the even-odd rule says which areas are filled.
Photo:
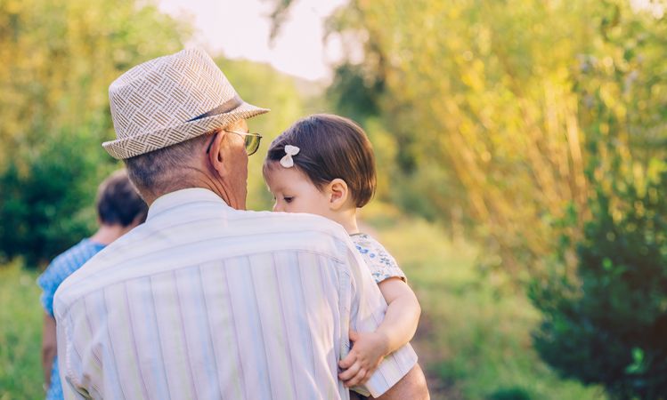
[[197, 45], [244, 100], [248, 206], [302, 116], [362, 124], [364, 229], [419, 297], [434, 399], [664, 399], [663, 0], [0, 0], [0, 400], [41, 398], [37, 276], [95, 228], [107, 88]]

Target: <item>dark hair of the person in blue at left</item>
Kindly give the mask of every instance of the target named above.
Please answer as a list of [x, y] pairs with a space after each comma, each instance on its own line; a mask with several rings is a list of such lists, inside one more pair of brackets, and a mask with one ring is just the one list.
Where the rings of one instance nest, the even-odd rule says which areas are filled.
[[113, 172], [97, 189], [97, 215], [104, 225], [127, 227], [146, 220], [148, 206], [127, 178], [126, 170]]

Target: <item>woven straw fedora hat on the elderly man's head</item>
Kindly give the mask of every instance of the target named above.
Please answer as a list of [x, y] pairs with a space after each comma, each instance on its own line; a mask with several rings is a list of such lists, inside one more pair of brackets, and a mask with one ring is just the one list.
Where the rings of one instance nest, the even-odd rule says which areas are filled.
[[167, 148], [269, 111], [241, 100], [223, 71], [196, 48], [130, 69], [109, 86], [109, 100], [117, 140], [102, 147], [118, 159]]

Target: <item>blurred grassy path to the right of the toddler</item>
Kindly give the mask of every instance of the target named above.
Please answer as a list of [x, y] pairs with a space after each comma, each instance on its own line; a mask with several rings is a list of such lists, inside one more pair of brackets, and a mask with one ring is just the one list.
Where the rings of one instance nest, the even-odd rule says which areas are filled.
[[[480, 276], [479, 248], [386, 204], [363, 219], [405, 269], [423, 309], [415, 346], [434, 399], [603, 399], [561, 380], [531, 348], [539, 313], [521, 292]], [[511, 395], [511, 396], [510, 396]]]

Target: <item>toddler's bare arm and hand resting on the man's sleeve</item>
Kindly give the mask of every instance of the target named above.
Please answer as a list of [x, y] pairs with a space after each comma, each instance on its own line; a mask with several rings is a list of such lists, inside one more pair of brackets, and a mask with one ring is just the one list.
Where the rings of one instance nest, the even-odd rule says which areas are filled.
[[421, 308], [410, 286], [398, 277], [378, 284], [385, 297], [385, 319], [375, 332], [350, 331], [354, 346], [338, 365], [344, 371], [338, 377], [346, 387], [365, 383], [382, 359], [408, 343], [419, 323]]

